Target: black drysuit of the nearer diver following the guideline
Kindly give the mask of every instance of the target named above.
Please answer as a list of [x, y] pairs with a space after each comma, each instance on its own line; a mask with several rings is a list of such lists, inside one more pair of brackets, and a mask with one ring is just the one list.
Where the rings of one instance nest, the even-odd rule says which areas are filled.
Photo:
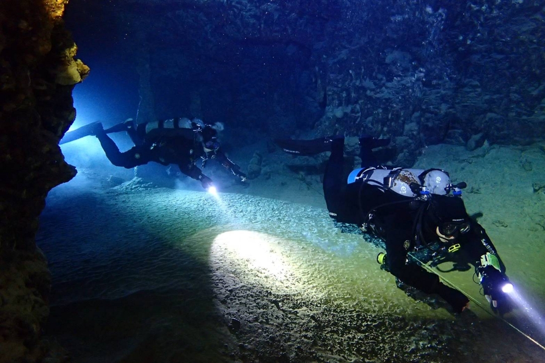
[[[410, 251], [438, 241], [435, 226], [427, 222], [425, 218], [419, 223], [421, 210], [420, 206], [411, 203], [414, 198], [405, 197], [391, 189], [378, 188], [376, 185], [364, 182], [363, 179], [347, 183], [348, 174], [343, 170], [343, 145], [344, 139], [333, 140], [331, 156], [324, 175], [324, 197], [330, 217], [341, 223], [356, 224], [358, 227], [368, 226], [371, 233], [385, 241], [386, 267], [392, 275], [425, 293], [438, 293], [455, 310], [461, 309], [467, 304], [467, 298], [464, 300], [462, 296], [459, 296], [461, 293], [457, 295], [454, 291], [447, 290], [450, 288], [440, 283], [437, 275], [417, 264], [408, 263], [407, 260], [407, 254]], [[365, 145], [361, 147], [362, 168], [376, 166], [371, 147]], [[467, 216], [467, 213], [465, 215]], [[457, 238], [456, 242], [461, 248], [455, 253], [465, 253], [466, 260], [479, 268], [482, 255], [489, 252], [497, 257], [498, 253], [485, 229], [469, 216], [467, 217], [470, 230]], [[501, 261], [500, 264], [501, 273], [504, 273], [505, 266]]]

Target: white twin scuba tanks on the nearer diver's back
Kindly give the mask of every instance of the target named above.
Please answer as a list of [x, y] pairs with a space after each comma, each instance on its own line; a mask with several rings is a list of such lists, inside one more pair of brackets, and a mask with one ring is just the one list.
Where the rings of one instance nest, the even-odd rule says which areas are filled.
[[405, 197], [416, 197], [410, 184], [417, 183], [427, 188], [431, 194], [445, 195], [451, 185], [449, 174], [440, 169], [355, 169], [348, 175], [348, 184], [364, 182], [381, 188], [391, 189]]

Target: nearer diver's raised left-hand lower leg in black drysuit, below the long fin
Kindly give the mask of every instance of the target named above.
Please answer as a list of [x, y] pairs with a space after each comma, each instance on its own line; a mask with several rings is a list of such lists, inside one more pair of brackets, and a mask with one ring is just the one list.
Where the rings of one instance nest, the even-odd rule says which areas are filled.
[[344, 138], [335, 138], [331, 141], [331, 155], [325, 166], [323, 183], [325, 204], [331, 218], [337, 216], [343, 203], [344, 182]]

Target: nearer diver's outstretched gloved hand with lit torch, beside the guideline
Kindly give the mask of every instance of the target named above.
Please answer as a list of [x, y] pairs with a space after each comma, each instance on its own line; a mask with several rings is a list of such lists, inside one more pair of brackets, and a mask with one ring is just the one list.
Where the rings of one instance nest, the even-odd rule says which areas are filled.
[[480, 283], [486, 300], [490, 302], [493, 310], [499, 310], [502, 313], [511, 310], [508, 293], [513, 285], [505, 273], [501, 273], [494, 266], [479, 267]]

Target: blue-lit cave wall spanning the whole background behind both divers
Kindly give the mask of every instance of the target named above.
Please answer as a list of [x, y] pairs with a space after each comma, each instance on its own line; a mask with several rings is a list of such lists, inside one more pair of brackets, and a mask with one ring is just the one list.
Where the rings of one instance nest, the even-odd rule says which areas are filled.
[[159, 117], [389, 136], [409, 165], [545, 138], [542, 1], [131, 0], [120, 19], [147, 39]]

